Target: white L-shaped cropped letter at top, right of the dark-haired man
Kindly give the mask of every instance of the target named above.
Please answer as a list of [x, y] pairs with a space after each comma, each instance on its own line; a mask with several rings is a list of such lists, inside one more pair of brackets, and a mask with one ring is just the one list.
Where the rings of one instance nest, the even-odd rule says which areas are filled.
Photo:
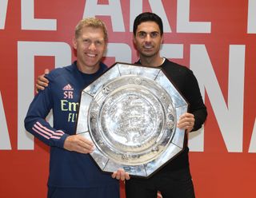
[[190, 22], [190, 0], [177, 1], [178, 33], [210, 33], [210, 22]]

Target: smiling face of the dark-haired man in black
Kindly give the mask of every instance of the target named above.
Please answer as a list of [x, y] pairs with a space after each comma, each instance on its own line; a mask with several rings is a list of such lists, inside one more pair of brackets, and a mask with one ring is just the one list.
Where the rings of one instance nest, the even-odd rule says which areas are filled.
[[154, 57], [159, 53], [162, 36], [156, 22], [142, 22], [138, 25], [134, 44], [140, 57]]

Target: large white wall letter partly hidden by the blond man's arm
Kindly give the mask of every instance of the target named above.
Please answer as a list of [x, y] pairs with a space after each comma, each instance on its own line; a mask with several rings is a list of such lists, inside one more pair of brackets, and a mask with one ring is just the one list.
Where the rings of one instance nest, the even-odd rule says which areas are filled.
[[71, 63], [71, 49], [65, 42], [18, 42], [18, 149], [34, 149], [24, 118], [34, 98], [35, 56], [53, 56], [55, 65], [65, 66]]

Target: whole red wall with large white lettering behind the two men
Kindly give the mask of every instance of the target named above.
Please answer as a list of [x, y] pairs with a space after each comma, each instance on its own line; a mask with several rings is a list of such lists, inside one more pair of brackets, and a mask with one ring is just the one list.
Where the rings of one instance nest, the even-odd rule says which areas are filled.
[[[32, 100], [35, 77], [61, 62], [54, 52], [47, 55], [40, 50], [60, 42], [71, 53], [74, 26], [83, 16], [96, 14], [110, 34], [106, 64], [136, 61], [130, 21], [136, 11], [151, 10], [166, 16], [165, 26], [170, 27], [164, 38], [170, 49], [162, 53], [194, 71], [209, 111], [204, 131], [190, 140], [197, 197], [255, 196], [256, 0], [4, 0], [0, 2], [1, 197], [46, 197], [48, 148], [28, 141], [18, 124], [25, 116], [22, 108]], [[43, 19], [48, 21], [41, 25]], [[35, 42], [34, 49], [22, 48], [26, 42]], [[20, 61], [33, 50], [39, 53], [34, 53], [32, 63], [28, 58]], [[61, 59], [68, 61], [69, 56]]]

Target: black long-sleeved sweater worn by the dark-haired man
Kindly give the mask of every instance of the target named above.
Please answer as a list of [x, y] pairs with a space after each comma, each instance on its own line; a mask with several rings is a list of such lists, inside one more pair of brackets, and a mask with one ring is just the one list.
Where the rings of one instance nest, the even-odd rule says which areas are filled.
[[[135, 64], [141, 65], [140, 61]], [[166, 77], [169, 77], [170, 81], [173, 82], [174, 86], [189, 104], [188, 112], [194, 114], [195, 119], [194, 129], [192, 131], [200, 129], [202, 124], [206, 121], [207, 111], [206, 106], [202, 101], [198, 81], [196, 77], [194, 77], [194, 73], [185, 66], [178, 65], [177, 63], [169, 61], [167, 58], [159, 67], [162, 68]], [[182, 152], [166, 163], [160, 172], [188, 168], [188, 152], [189, 148], [187, 147], [187, 137], [185, 137], [184, 149]]]

